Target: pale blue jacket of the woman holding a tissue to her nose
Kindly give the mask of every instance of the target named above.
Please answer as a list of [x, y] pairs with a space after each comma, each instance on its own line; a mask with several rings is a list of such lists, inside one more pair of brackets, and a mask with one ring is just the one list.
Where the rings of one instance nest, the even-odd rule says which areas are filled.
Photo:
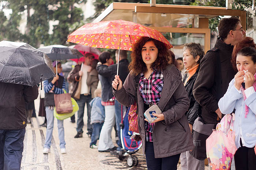
[[[245, 99], [242, 93], [239, 93], [234, 86], [234, 79], [229, 83], [226, 94], [219, 100], [219, 109], [223, 114], [232, 113], [234, 109], [235, 121], [235, 143], [237, 148], [240, 147], [240, 138], [242, 135], [242, 144], [248, 148], [252, 148], [256, 143], [256, 92]], [[245, 105], [249, 107], [249, 113], [245, 118]], [[241, 134], [242, 132], [242, 134]]]

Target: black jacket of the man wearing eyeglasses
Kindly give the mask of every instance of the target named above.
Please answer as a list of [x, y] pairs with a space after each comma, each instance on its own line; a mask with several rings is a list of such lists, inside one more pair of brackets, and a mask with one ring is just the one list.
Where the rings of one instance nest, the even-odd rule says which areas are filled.
[[193, 95], [202, 106], [202, 118], [206, 124], [217, 124], [218, 109], [217, 92], [221, 97], [226, 93], [229, 82], [234, 78], [236, 72], [231, 65], [231, 54], [234, 46], [225, 44], [220, 38], [217, 39], [214, 48], [218, 48], [221, 63], [221, 89], [216, 89], [217, 56], [215, 52], [208, 52], [200, 62], [200, 69], [193, 87]]

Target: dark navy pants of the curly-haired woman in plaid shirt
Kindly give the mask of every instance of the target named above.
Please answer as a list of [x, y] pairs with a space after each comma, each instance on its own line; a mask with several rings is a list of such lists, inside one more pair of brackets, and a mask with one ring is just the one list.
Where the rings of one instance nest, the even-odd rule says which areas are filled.
[[148, 170], [177, 170], [180, 154], [165, 158], [155, 158], [153, 142], [146, 141], [146, 161]]

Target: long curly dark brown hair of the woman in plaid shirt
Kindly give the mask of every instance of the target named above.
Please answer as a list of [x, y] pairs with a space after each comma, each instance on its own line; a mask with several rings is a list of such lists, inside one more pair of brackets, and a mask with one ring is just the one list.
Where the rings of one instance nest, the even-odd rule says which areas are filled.
[[147, 71], [146, 64], [142, 60], [142, 47], [146, 42], [152, 41], [158, 49], [157, 60], [151, 65], [150, 68], [157, 70], [164, 70], [170, 60], [169, 52], [165, 43], [149, 37], [141, 37], [134, 45], [131, 54], [131, 63], [128, 68], [131, 73], [138, 75]]

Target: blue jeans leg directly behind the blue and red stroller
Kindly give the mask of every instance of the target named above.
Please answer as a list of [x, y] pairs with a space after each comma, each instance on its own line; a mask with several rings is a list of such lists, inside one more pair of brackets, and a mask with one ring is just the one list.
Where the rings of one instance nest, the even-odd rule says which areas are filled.
[[115, 117], [116, 117], [116, 131], [117, 131], [117, 135], [118, 135], [118, 141], [117, 141], [117, 150], [120, 151], [122, 147], [122, 143], [121, 143], [121, 136], [120, 136], [120, 123], [122, 120], [122, 114], [121, 114], [121, 107], [123, 107], [123, 113], [126, 110], [125, 106], [122, 106], [117, 100], [115, 100]]

